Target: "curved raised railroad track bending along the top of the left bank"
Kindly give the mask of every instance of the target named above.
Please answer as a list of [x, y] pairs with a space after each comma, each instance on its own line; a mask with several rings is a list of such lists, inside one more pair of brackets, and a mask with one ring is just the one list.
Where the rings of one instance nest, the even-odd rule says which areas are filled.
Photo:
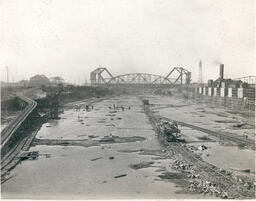
[[34, 100], [27, 98], [26, 96], [19, 95], [20, 99], [27, 103], [26, 108], [18, 115], [16, 119], [11, 121], [11, 123], [3, 129], [1, 132], [1, 147], [9, 141], [13, 133], [20, 127], [22, 122], [28, 117], [28, 115], [36, 108], [37, 103]]

